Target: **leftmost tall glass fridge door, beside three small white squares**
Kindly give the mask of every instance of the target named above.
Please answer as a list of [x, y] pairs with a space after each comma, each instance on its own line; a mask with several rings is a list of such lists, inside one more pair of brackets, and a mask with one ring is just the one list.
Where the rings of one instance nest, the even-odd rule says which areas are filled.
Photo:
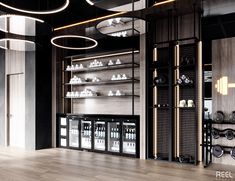
[[79, 148], [79, 119], [77, 118], [69, 118], [69, 147], [71, 148]]

